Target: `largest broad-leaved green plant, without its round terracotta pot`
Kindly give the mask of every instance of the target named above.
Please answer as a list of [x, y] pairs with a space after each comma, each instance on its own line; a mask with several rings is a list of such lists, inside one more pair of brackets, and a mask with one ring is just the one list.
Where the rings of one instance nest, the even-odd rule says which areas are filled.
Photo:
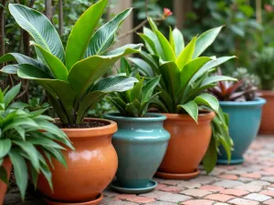
[[125, 91], [137, 81], [134, 77], [100, 77], [121, 56], [138, 53], [142, 44], [121, 46], [110, 51], [115, 34], [132, 8], [116, 15], [95, 31], [108, 0], [100, 0], [83, 13], [73, 26], [66, 50], [58, 32], [47, 17], [24, 5], [10, 4], [9, 11], [33, 38], [37, 59], [17, 53], [2, 56], [0, 62], [16, 61], [2, 69], [24, 79], [35, 80], [63, 124], [79, 124], [88, 110], [113, 91]]

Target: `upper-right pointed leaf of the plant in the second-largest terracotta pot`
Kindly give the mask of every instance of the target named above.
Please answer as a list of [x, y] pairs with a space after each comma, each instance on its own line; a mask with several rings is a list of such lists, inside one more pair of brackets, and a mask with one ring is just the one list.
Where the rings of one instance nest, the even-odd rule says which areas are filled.
[[216, 39], [216, 36], [218, 36], [220, 33], [222, 27], [223, 26], [212, 28], [205, 31], [201, 36], [198, 36], [195, 44], [195, 53], [193, 58], [200, 56], [208, 46], [212, 45]]

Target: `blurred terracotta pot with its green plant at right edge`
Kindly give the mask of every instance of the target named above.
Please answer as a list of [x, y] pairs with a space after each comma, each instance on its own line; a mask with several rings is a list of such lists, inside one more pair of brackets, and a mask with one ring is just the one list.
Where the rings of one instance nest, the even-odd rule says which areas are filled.
[[259, 132], [272, 135], [274, 134], [274, 118], [272, 117], [274, 116], [274, 48], [269, 46], [263, 47], [261, 52], [255, 53], [255, 57], [254, 72], [260, 79], [258, 95], [267, 100], [266, 105], [263, 107]]

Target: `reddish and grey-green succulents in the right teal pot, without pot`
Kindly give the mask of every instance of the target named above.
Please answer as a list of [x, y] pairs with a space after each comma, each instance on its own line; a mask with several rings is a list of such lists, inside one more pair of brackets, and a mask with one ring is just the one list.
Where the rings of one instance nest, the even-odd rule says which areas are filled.
[[[218, 69], [217, 75], [221, 74]], [[250, 101], [256, 97], [258, 80], [254, 75], [249, 75], [246, 68], [237, 68], [233, 74], [237, 82], [217, 82], [216, 87], [210, 87], [209, 91], [220, 101]]]

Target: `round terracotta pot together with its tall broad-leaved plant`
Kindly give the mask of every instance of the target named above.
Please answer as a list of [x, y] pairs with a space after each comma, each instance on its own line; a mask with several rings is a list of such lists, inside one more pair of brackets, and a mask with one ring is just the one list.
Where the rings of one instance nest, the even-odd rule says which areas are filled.
[[6, 54], [0, 62], [16, 61], [17, 64], [8, 65], [2, 71], [35, 80], [45, 88], [58, 114], [58, 127], [75, 147], [74, 151], [63, 151], [67, 169], [52, 161], [54, 191], [47, 184], [47, 176], [38, 177], [37, 188], [48, 204], [82, 204], [85, 201], [98, 204], [102, 200], [100, 192], [109, 185], [117, 170], [117, 154], [111, 144], [111, 136], [117, 131], [116, 123], [85, 116], [108, 93], [134, 86], [137, 82], [134, 77], [100, 77], [121, 56], [138, 53], [142, 45], [126, 45], [110, 51], [118, 27], [132, 9], [121, 12], [95, 31], [107, 4], [108, 0], [100, 0], [79, 17], [68, 36], [66, 50], [45, 15], [24, 5], [9, 5], [16, 23], [33, 38], [31, 45], [35, 46], [37, 59]]

